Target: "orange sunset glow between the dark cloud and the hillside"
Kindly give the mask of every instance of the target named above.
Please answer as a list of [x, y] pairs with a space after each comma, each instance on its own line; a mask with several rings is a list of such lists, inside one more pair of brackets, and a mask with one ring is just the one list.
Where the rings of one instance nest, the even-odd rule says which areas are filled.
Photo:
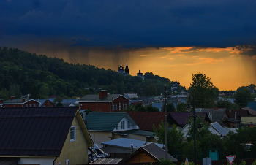
[[139, 70], [143, 74], [153, 72], [170, 81], [177, 80], [186, 88], [192, 83], [192, 74], [198, 72], [210, 77], [220, 91], [256, 84], [256, 57], [246, 55], [249, 48], [147, 47], [107, 50], [76, 47], [70, 50], [59, 47], [54, 50], [30, 50], [48, 57], [62, 58], [72, 64], [90, 64], [114, 71], [120, 64], [125, 66], [127, 63], [129, 73], [133, 76]]

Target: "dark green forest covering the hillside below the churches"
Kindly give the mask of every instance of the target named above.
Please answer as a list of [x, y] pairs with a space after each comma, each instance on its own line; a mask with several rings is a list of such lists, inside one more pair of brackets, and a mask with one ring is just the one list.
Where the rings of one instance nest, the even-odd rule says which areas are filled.
[[39, 99], [53, 95], [68, 99], [98, 93], [102, 89], [113, 94], [135, 92], [139, 96], [158, 96], [164, 93], [165, 85], [169, 90], [172, 84], [169, 79], [151, 72], [142, 80], [111, 69], [70, 64], [63, 59], [10, 47], [0, 47], [0, 64], [0, 99], [4, 100], [10, 96], [20, 98], [32, 89], [38, 91]]

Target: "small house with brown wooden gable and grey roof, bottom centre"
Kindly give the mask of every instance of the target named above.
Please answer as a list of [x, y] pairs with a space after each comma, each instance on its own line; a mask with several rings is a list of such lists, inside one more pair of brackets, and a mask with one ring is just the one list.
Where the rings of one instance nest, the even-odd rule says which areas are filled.
[[[120, 161], [120, 164], [153, 163], [157, 162], [160, 158], [165, 158], [165, 150], [162, 150], [158, 145], [151, 142], [135, 150], [134, 153]], [[177, 161], [170, 154], [167, 154], [167, 159]]]

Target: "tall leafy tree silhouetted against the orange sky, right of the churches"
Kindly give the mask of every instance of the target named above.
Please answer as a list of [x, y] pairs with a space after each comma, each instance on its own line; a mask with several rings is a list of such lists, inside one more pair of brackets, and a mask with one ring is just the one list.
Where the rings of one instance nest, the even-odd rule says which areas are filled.
[[[195, 107], [214, 107], [214, 100], [219, 96], [219, 89], [214, 86], [206, 74], [192, 74], [192, 84], [189, 88], [189, 103], [195, 101]], [[193, 99], [192, 99], [192, 97]]]

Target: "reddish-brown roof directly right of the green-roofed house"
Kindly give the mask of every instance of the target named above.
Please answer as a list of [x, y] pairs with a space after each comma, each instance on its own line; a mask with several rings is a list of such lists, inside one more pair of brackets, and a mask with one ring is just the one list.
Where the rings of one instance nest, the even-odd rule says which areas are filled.
[[165, 120], [165, 112], [128, 112], [135, 123], [144, 131], [153, 131], [152, 126], [159, 128], [161, 120]]

